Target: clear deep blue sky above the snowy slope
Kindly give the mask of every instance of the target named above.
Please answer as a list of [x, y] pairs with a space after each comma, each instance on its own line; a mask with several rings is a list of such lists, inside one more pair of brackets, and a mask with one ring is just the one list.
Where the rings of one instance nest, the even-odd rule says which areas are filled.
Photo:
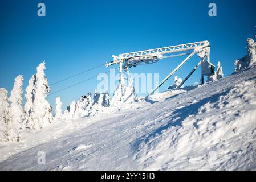
[[[46, 5], [46, 17], [37, 16], [37, 5]], [[210, 2], [217, 4], [217, 17], [208, 16]], [[234, 71], [234, 60], [246, 54], [246, 39], [253, 38], [256, 1], [1, 1], [0, 87], [9, 92], [17, 75], [24, 76], [24, 90], [36, 66], [46, 60], [49, 84], [112, 60], [112, 55], [144, 49], [209, 40], [211, 61], [221, 61], [225, 76]], [[162, 60], [131, 69], [159, 73], [160, 80], [177, 66], [176, 59]], [[195, 56], [181, 78], [197, 63]], [[51, 86], [52, 92], [108, 71], [100, 67]], [[187, 84], [199, 82], [197, 71]], [[162, 86], [166, 90], [173, 77]], [[94, 92], [96, 78], [48, 96], [54, 106], [64, 107], [87, 92]]]

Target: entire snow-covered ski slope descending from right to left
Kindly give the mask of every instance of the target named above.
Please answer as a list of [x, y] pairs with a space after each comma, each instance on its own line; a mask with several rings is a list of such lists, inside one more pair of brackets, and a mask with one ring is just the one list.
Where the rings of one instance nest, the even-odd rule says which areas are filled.
[[105, 112], [23, 131], [0, 169], [256, 169], [256, 67]]

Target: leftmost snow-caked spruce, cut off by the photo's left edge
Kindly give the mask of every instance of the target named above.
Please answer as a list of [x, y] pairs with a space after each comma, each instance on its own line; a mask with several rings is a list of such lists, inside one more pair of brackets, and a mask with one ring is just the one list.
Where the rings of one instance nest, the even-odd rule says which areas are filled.
[[9, 104], [7, 90], [0, 88], [0, 142], [7, 141], [7, 123], [9, 122]]

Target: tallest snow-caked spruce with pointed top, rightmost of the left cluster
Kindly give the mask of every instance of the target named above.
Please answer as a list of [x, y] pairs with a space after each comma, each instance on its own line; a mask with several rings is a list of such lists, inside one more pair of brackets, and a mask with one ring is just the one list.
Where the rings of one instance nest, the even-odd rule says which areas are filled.
[[48, 81], [44, 73], [45, 61], [36, 68], [36, 84], [35, 84], [35, 100], [32, 106], [32, 119], [28, 123], [30, 130], [38, 130], [49, 125], [52, 118], [52, 107], [46, 100], [47, 94], [50, 92]]

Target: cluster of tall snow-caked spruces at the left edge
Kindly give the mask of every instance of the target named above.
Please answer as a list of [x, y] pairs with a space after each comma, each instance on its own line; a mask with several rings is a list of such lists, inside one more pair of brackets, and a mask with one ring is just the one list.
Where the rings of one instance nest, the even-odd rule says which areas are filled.
[[38, 65], [36, 74], [26, 88], [26, 104], [22, 106], [23, 76], [15, 78], [10, 97], [0, 88], [0, 141], [19, 141], [21, 130], [39, 130], [52, 122], [51, 106], [46, 100], [50, 92], [44, 73], [45, 61]]

